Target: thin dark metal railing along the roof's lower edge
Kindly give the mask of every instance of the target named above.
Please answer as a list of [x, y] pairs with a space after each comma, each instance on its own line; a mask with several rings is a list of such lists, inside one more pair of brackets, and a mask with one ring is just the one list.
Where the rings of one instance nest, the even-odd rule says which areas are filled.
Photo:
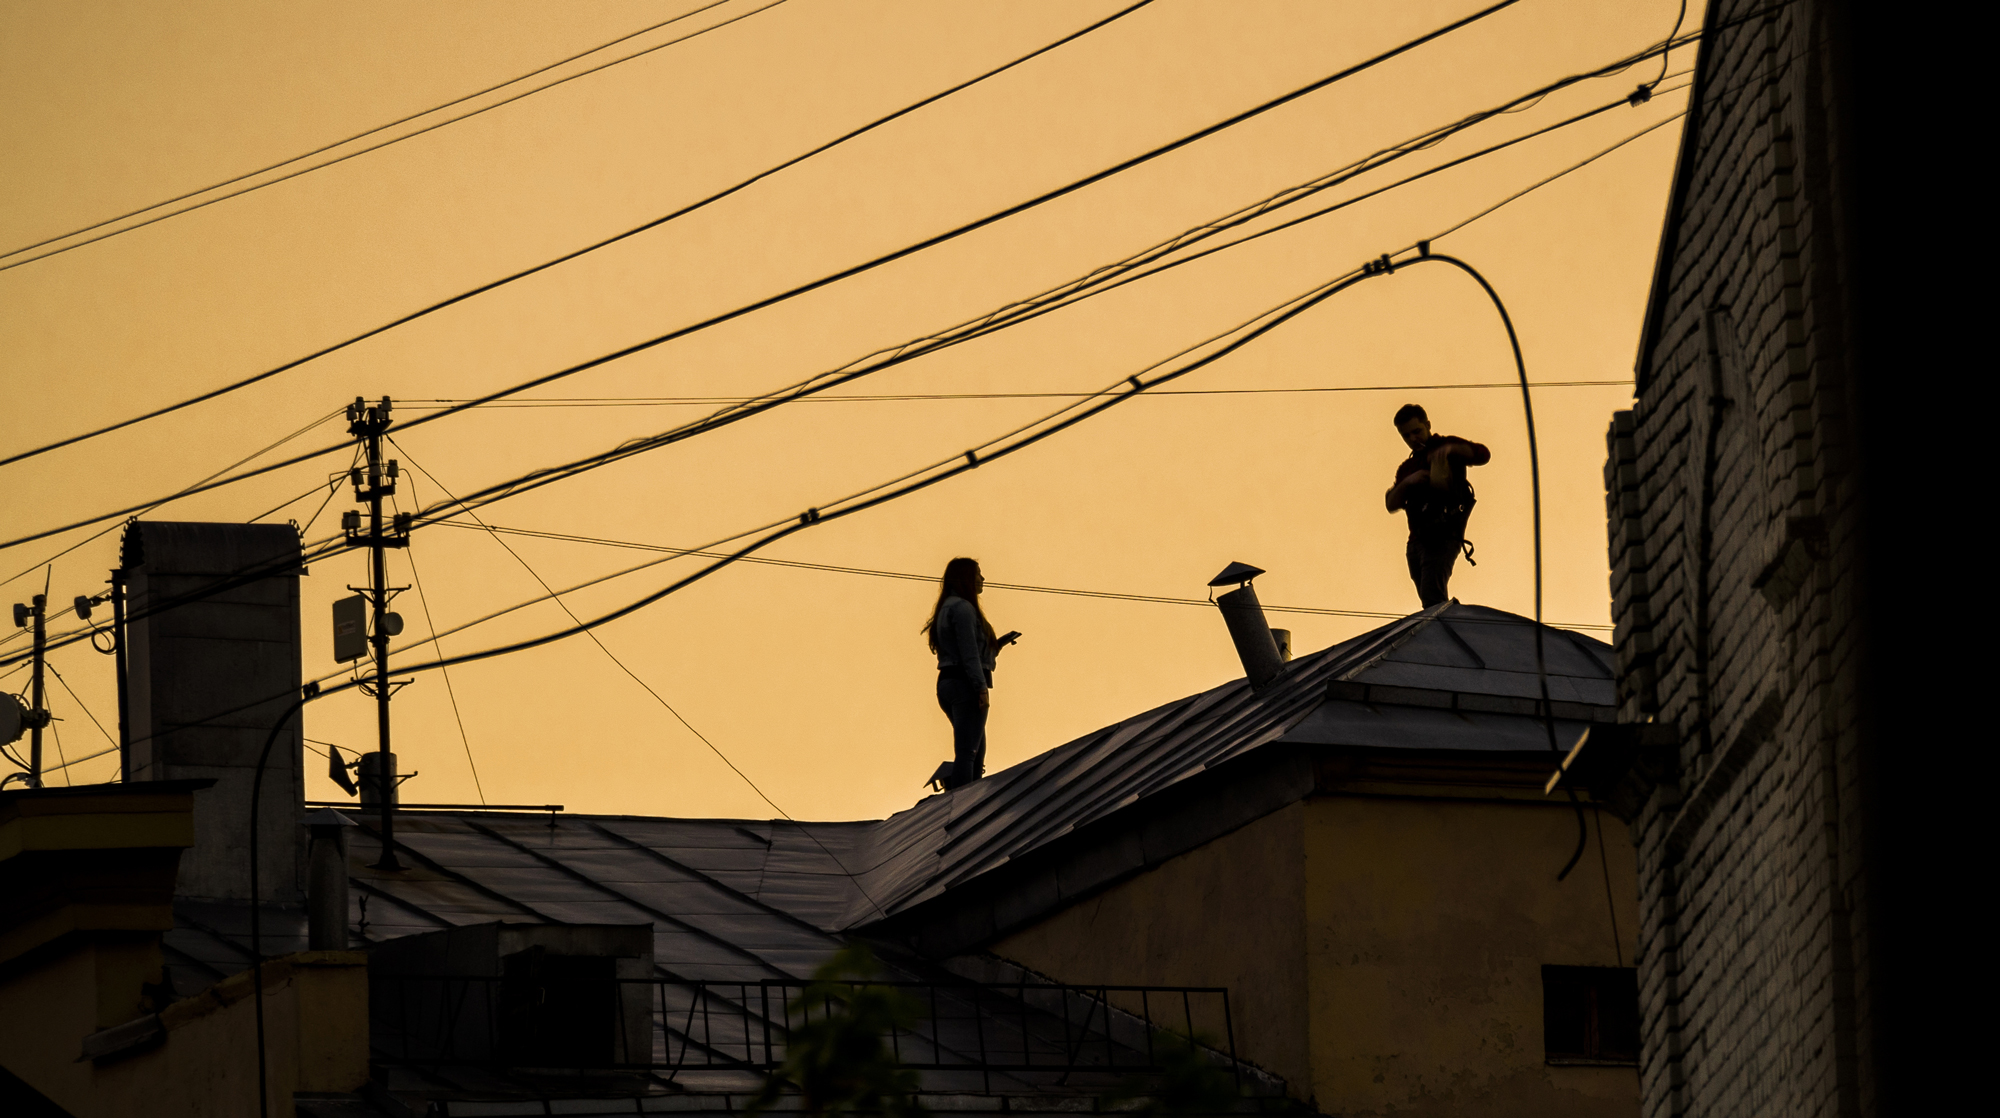
[[1172, 1034], [1236, 1068], [1218, 986], [376, 976], [370, 1046], [390, 1066], [768, 1074], [798, 1030], [862, 992], [900, 1002], [882, 1040], [910, 1070], [1158, 1072], [1186, 1050]]

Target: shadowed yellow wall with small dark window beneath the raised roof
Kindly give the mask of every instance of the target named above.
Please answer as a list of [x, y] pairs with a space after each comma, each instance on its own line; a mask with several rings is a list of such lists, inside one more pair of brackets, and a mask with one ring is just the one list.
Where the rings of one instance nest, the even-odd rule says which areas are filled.
[[1630, 1116], [1636, 1068], [1550, 1062], [1542, 1038], [1542, 966], [1632, 962], [1632, 846], [1600, 820], [1602, 854], [1592, 836], [1556, 882], [1576, 818], [1538, 782], [1372, 780], [992, 952], [1062, 980], [1226, 986], [1238, 1054], [1326, 1114]]

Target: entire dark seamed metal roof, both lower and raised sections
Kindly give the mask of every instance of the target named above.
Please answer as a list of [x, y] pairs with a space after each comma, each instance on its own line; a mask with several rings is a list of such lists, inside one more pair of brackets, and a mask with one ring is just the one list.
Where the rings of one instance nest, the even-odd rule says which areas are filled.
[[[1610, 652], [1554, 628], [1544, 642], [1566, 748], [1612, 718]], [[864, 940], [886, 980], [930, 998], [932, 1012], [900, 1038], [926, 1092], [1010, 1110], [1094, 1104], [1120, 1060], [1144, 1062], [1136, 1054], [1160, 1030], [1200, 1026], [1226, 1040], [1226, 1010], [1200, 1004], [1220, 992], [1178, 992], [1186, 1012], [1176, 1004], [1172, 1020], [1144, 1020], [1120, 1008], [1116, 990], [1052, 984], [986, 944], [1362, 770], [1400, 766], [1406, 778], [1426, 764], [1472, 764], [1538, 784], [1554, 768], [1538, 694], [1532, 622], [1448, 602], [1292, 660], [1262, 690], [1226, 682], [886, 820], [410, 810], [396, 834], [406, 870], [378, 872], [378, 838], [356, 816], [350, 928], [360, 944], [496, 922], [650, 926], [650, 1060], [630, 1060], [648, 1066], [578, 1084], [406, 1060], [414, 1026], [386, 1022], [380, 1006], [390, 986], [398, 998], [426, 994], [376, 968], [384, 1086], [438, 1114], [592, 1096], [616, 1096], [602, 1112], [620, 1114], [740, 1108], [778, 1058], [768, 1038], [782, 1036], [786, 998]], [[182, 900], [176, 916], [166, 944], [176, 992], [246, 966], [242, 910]], [[272, 912], [266, 936], [266, 952], [298, 950], [304, 920]], [[432, 994], [462, 1000], [452, 990]], [[1282, 1080], [1222, 1052], [1216, 1060], [1246, 1084], [1244, 1106], [1296, 1106]]]

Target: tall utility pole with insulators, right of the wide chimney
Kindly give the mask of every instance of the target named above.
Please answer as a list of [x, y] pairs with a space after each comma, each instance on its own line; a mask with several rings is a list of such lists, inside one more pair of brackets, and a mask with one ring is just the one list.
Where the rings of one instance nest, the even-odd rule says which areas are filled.
[[348, 406], [348, 434], [362, 442], [362, 452], [368, 458], [366, 466], [356, 466], [348, 474], [354, 484], [354, 500], [368, 506], [368, 534], [360, 532], [360, 510], [340, 518], [348, 546], [368, 548], [368, 588], [350, 586], [348, 590], [364, 594], [374, 614], [368, 634], [374, 648], [374, 680], [364, 682], [362, 692], [376, 700], [376, 790], [380, 796], [376, 806], [382, 810], [382, 860], [372, 866], [376, 870], [402, 868], [402, 862], [396, 860], [396, 754], [390, 752], [388, 734], [388, 700], [402, 686], [388, 678], [388, 638], [402, 632], [402, 618], [390, 612], [388, 602], [406, 588], [388, 584], [388, 548], [410, 546], [410, 514], [398, 514], [390, 524], [382, 522], [382, 500], [396, 492], [396, 462], [382, 460], [382, 436], [390, 428], [388, 412], [388, 396], [382, 396], [378, 404], [356, 396], [354, 404]]

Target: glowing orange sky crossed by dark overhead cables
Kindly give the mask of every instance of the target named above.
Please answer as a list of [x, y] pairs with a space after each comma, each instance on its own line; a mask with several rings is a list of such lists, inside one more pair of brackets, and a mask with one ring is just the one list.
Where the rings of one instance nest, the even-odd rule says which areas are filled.
[[[608, 56], [742, 14], [732, 0]], [[452, 100], [698, 6], [28, 4], [0, 6], [0, 250], [194, 190]], [[854, 124], [1116, 10], [1080, 2], [788, 0], [714, 34], [74, 252], [0, 270], [0, 452], [246, 376], [410, 308], [668, 212]], [[4, 468], [6, 536], [194, 482], [356, 394], [464, 398], [610, 352], [962, 224], [1192, 132], [1472, 12], [1470, 2], [1158, 0], [696, 216], [394, 330], [252, 390]], [[1380, 146], [1660, 40], [1676, 4], [1524, 0], [1392, 64], [1050, 206], [534, 396], [744, 396], [950, 326], [1338, 168]], [[1692, 64], [1676, 54], [1674, 70]], [[552, 72], [558, 76], [582, 64]], [[1364, 190], [1618, 98], [1588, 82], [1364, 178]], [[1680, 84], [1670, 80], [1668, 86]], [[498, 96], [498, 94], [496, 94]], [[484, 98], [494, 100], [494, 98]], [[480, 102], [474, 102], [480, 104]], [[856, 384], [866, 394], [1096, 390], [1258, 310], [1402, 248], [1678, 112], [1618, 108], [1342, 214]], [[412, 126], [414, 128], [414, 126]], [[1630, 376], [1678, 122], [1438, 242], [1498, 286], [1534, 380]], [[1334, 192], [1328, 198], [1338, 198]], [[1288, 214], [1284, 214], [1288, 216]], [[4, 258], [8, 264], [14, 258]], [[1464, 276], [1430, 266], [1362, 284], [1182, 388], [1502, 382], [1506, 336]], [[1400, 516], [1382, 512], [1402, 446], [1390, 412], [1488, 442], [1458, 598], [1532, 606], [1518, 392], [1384, 390], [1136, 400], [1036, 450], [804, 532], [770, 556], [934, 574], [970, 554], [994, 582], [1204, 596], [1230, 560], [1266, 568], [1266, 604], [1416, 608]], [[798, 404], [492, 506], [492, 524], [694, 546], [962, 452], [1056, 400]], [[1556, 622], [1604, 626], [1604, 426], [1630, 390], [1536, 392]], [[402, 412], [406, 418], [418, 412]], [[454, 490], [662, 430], [686, 406], [488, 408], [410, 432], [404, 458]], [[328, 422], [306, 436], [336, 440]], [[154, 516], [246, 520], [344, 468], [322, 460]], [[408, 486], [406, 486], [408, 490]], [[416, 478], [416, 500], [440, 494]], [[284, 516], [306, 520], [318, 500]], [[314, 524], [348, 508], [342, 492]], [[0, 554], [0, 578], [88, 536]], [[54, 564], [50, 596], [102, 588], [116, 534]], [[644, 558], [512, 540], [556, 586]], [[482, 532], [428, 528], [410, 634], [540, 592]], [[682, 560], [686, 562], [686, 560]], [[590, 616], [682, 564], [572, 600]], [[34, 576], [0, 594], [26, 600]], [[328, 604], [362, 556], [312, 566], [306, 674], [334, 670]], [[604, 644], [786, 812], [870, 818], [920, 796], [950, 754], [918, 626], [920, 582], [736, 566], [600, 630]], [[990, 768], [1240, 674], [1208, 608], [988, 594], [1026, 636], [1002, 662]], [[466, 652], [566, 624], [554, 604], [446, 638]], [[1300, 650], [1380, 622], [1274, 616]], [[58, 626], [60, 628], [60, 626]], [[1600, 636], [1604, 636], [1600, 632]], [[20, 640], [4, 644], [8, 654]], [[430, 648], [424, 648], [430, 658]], [[108, 656], [56, 670], [114, 716]], [[742, 778], [586, 638], [422, 676], [396, 700], [398, 754], [424, 802], [770, 816]], [[24, 690], [24, 674], [0, 682]], [[68, 756], [104, 748], [52, 682]], [[306, 734], [372, 748], [372, 706], [308, 708]], [[478, 764], [474, 784], [470, 758]], [[50, 742], [50, 756], [54, 756]], [[104, 780], [112, 758], [76, 766]], [[334, 786], [308, 766], [308, 796]], [[56, 778], [60, 784], [60, 778]]]

